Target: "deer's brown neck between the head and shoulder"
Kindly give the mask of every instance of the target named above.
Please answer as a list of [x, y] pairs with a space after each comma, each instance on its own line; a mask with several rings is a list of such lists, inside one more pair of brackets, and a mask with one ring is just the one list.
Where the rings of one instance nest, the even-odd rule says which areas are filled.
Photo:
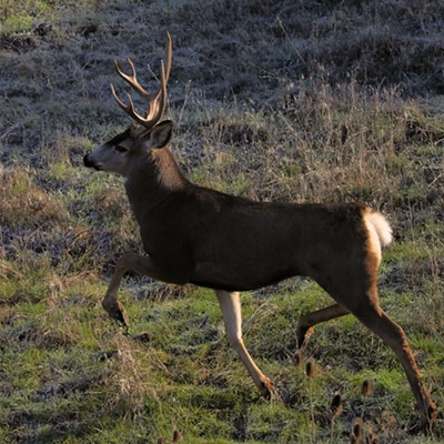
[[125, 178], [125, 190], [135, 219], [143, 225], [157, 206], [190, 182], [167, 148], [150, 150], [133, 163]]

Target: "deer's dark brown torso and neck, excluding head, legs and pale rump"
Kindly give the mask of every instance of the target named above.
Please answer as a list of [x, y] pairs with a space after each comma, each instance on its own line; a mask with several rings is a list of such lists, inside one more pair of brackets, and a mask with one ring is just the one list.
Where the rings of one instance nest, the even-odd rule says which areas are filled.
[[306, 275], [329, 287], [333, 275], [363, 263], [363, 205], [263, 203], [196, 186], [168, 149], [147, 165], [125, 188], [144, 250], [169, 282], [243, 291]]

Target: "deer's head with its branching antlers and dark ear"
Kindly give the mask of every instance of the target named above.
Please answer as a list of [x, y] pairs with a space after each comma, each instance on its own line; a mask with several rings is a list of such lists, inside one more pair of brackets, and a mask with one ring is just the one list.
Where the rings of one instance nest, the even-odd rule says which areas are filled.
[[131, 74], [125, 74], [121, 70], [118, 61], [114, 60], [118, 74], [147, 99], [148, 110], [144, 117], [139, 114], [139, 112], [135, 111], [131, 95], [128, 94], [128, 104], [123, 103], [117, 95], [114, 87], [111, 84], [112, 95], [119, 107], [137, 123], [132, 124], [110, 141], [98, 147], [94, 151], [88, 153], [83, 158], [85, 167], [94, 168], [95, 170], [111, 171], [128, 176], [131, 165], [147, 158], [147, 152], [149, 150], [163, 148], [170, 141], [172, 122], [170, 120], [160, 122], [167, 108], [167, 82], [171, 70], [171, 36], [169, 32], [167, 32], [167, 36], [165, 64], [162, 61], [161, 85], [153, 99], [151, 99], [150, 94], [139, 83], [132, 61], [128, 59]]

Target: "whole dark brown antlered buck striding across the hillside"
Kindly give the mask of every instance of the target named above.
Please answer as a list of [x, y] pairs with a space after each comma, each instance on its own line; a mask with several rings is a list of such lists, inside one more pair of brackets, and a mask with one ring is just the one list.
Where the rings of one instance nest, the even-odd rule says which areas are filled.
[[392, 228], [379, 211], [362, 203], [259, 202], [192, 183], [167, 147], [173, 122], [162, 120], [172, 61], [167, 32], [160, 87], [150, 95], [139, 83], [133, 62], [127, 74], [115, 71], [147, 101], [137, 111], [131, 94], [124, 103], [111, 84], [118, 105], [134, 121], [128, 129], [87, 153], [83, 163], [123, 176], [145, 254], [119, 259], [102, 305], [128, 326], [118, 291], [128, 271], [170, 284], [211, 289], [219, 301], [229, 344], [235, 350], [262, 395], [274, 395], [271, 380], [258, 367], [242, 337], [240, 293], [292, 276], [313, 279], [333, 299], [324, 309], [303, 314], [296, 325], [299, 350], [314, 326], [353, 314], [396, 354], [415, 396], [425, 430], [437, 408], [424, 386], [403, 329], [380, 305], [377, 281], [382, 250]]

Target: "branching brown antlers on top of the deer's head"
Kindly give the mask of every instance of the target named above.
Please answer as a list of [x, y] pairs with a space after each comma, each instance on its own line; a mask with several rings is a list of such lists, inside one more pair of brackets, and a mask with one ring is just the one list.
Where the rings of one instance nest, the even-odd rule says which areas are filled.
[[141, 87], [137, 77], [135, 77], [135, 68], [133, 62], [128, 58], [128, 63], [131, 67], [131, 74], [125, 74], [119, 67], [117, 60], [114, 60], [115, 71], [118, 74], [125, 80], [130, 87], [132, 87], [135, 91], [140, 92], [147, 100], [148, 100], [148, 111], [147, 115], [140, 115], [135, 109], [134, 103], [131, 99], [130, 93], [128, 94], [129, 104], [124, 104], [115, 93], [114, 87], [111, 84], [111, 92], [114, 97], [115, 101], [118, 102], [119, 107], [129, 114], [133, 120], [144, 127], [147, 130], [151, 130], [162, 118], [163, 112], [167, 108], [167, 82], [170, 77], [171, 71], [171, 36], [167, 31], [168, 42], [167, 42], [167, 68], [163, 64], [162, 60], [162, 75], [161, 75], [161, 85], [159, 88], [158, 93], [155, 94], [153, 100], [150, 100], [150, 94]]

